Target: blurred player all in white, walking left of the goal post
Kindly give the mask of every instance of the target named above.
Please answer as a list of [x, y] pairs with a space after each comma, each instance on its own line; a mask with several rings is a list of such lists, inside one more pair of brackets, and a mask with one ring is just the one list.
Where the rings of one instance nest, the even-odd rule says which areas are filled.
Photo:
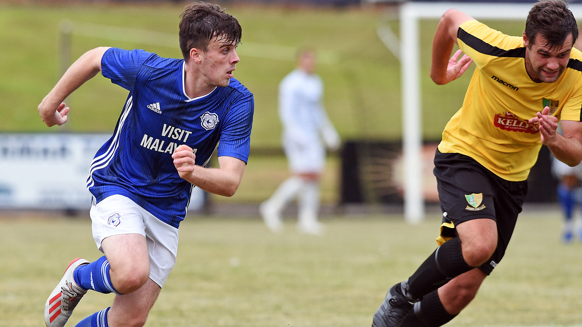
[[336, 150], [340, 138], [322, 105], [323, 83], [314, 73], [314, 68], [314, 53], [303, 50], [299, 53], [297, 69], [285, 76], [279, 85], [283, 150], [293, 176], [286, 179], [260, 207], [265, 224], [275, 233], [283, 229], [281, 211], [296, 196], [299, 200], [297, 228], [303, 233], [322, 233], [317, 212], [319, 181], [325, 168], [324, 143]]

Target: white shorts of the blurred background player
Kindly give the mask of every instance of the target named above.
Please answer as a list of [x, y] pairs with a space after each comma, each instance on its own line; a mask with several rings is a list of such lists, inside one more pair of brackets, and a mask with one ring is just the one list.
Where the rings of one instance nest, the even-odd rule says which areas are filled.
[[283, 150], [294, 173], [321, 173], [325, 168], [325, 148], [320, 142], [300, 144], [286, 140]]

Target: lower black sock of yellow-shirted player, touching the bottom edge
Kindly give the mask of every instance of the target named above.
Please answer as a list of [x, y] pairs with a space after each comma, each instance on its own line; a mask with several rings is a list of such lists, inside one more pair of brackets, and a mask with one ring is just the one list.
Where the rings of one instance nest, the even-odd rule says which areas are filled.
[[439, 327], [457, 315], [446, 312], [438, 297], [437, 290], [423, 296], [423, 300], [414, 303], [414, 310], [404, 318], [400, 327]]

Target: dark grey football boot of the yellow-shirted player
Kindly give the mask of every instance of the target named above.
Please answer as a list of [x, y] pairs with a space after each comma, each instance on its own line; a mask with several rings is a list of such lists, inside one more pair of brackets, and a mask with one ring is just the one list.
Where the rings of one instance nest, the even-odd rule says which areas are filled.
[[372, 327], [400, 326], [416, 301], [418, 299], [411, 298], [408, 293], [408, 280], [390, 287], [386, 298], [374, 314]]

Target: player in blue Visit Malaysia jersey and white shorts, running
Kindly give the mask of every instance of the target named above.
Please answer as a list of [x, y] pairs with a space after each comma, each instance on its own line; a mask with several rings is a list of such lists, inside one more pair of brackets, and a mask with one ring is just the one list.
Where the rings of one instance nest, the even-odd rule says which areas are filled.
[[[90, 289], [115, 293], [115, 300], [77, 327], [143, 326], [176, 262], [191, 188], [235, 193], [254, 109], [253, 94], [232, 77], [241, 33], [219, 6], [194, 3], [180, 21], [183, 60], [96, 48], [73, 63], [38, 106], [47, 126], [62, 125], [69, 112], [63, 99], [100, 71], [129, 90], [87, 179], [93, 237], [105, 255], [71, 262], [45, 305], [48, 327], [64, 326]], [[205, 168], [217, 147], [219, 168]]]

